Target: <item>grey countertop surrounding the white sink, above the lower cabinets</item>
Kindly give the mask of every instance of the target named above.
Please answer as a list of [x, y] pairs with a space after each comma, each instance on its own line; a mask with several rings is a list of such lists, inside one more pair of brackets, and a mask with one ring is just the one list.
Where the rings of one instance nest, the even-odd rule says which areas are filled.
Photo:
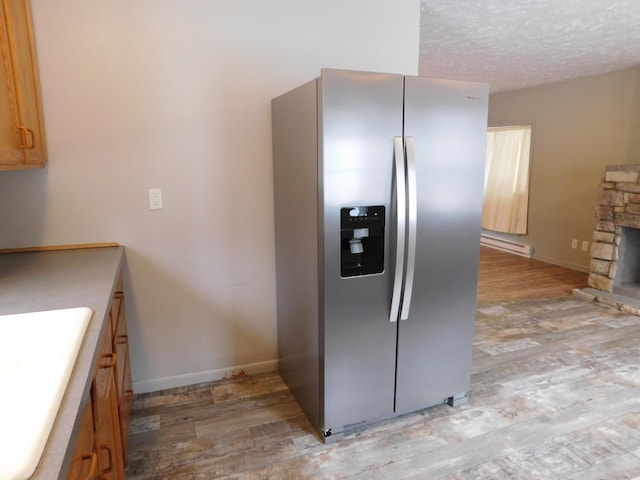
[[88, 307], [93, 315], [44, 452], [31, 480], [65, 479], [108, 325], [124, 247], [0, 254], [0, 315]]

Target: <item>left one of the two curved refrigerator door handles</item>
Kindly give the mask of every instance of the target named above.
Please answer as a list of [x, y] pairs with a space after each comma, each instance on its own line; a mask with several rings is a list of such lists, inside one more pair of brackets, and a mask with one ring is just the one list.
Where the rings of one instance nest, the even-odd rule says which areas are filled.
[[397, 322], [402, 298], [402, 277], [404, 274], [404, 244], [406, 230], [406, 187], [404, 167], [404, 140], [393, 137], [393, 162], [396, 187], [396, 262], [393, 274], [393, 290], [391, 294], [391, 311], [389, 322]]

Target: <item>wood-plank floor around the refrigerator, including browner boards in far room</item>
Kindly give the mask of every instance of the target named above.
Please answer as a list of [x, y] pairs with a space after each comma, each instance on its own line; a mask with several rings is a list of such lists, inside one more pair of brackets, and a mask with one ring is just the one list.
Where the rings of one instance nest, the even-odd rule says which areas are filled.
[[325, 445], [275, 372], [138, 395], [127, 478], [640, 478], [640, 317], [574, 273], [483, 250], [466, 405]]

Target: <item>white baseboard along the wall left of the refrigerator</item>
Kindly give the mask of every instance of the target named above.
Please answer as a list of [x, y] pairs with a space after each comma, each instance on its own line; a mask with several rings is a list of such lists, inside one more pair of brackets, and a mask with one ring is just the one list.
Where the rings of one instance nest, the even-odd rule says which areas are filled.
[[217, 370], [207, 370], [204, 372], [185, 373], [171, 377], [154, 378], [142, 382], [133, 382], [135, 393], [156, 392], [167, 388], [185, 387], [196, 383], [215, 382], [225, 377], [231, 377], [240, 371], [246, 374], [273, 372], [278, 369], [278, 360], [267, 360], [266, 362], [248, 363], [246, 365], [236, 365], [229, 368]]

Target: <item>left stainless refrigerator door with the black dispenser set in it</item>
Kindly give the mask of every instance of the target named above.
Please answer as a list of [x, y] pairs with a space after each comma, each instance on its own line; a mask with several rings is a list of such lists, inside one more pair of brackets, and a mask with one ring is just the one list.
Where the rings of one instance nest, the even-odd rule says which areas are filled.
[[[320, 80], [325, 430], [341, 431], [393, 414], [397, 323], [389, 322], [395, 267], [391, 197], [393, 138], [402, 136], [402, 97], [401, 75], [327, 69]], [[343, 276], [341, 251], [349, 255], [346, 248], [351, 248], [354, 258], [364, 258], [364, 240], [371, 234], [349, 230], [348, 220], [362, 216], [370, 222], [371, 212], [385, 217], [382, 272]], [[349, 231], [353, 242], [341, 250], [349, 245], [342, 238]], [[344, 258], [342, 263], [350, 264]]]

